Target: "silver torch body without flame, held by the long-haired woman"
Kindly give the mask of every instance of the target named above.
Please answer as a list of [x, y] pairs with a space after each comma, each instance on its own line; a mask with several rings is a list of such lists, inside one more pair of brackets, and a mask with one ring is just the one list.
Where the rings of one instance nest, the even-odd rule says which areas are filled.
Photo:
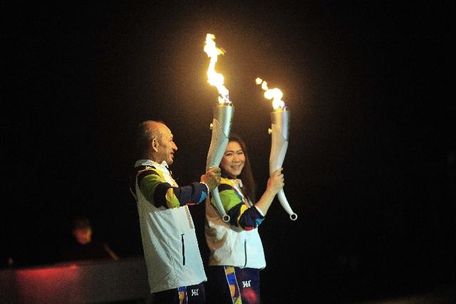
[[[282, 167], [284, 163], [286, 150], [288, 149], [289, 142], [289, 123], [290, 123], [290, 111], [284, 109], [274, 110], [271, 112], [271, 154], [269, 154], [269, 176]], [[280, 204], [284, 207], [286, 213], [289, 214], [290, 219], [295, 221], [298, 215], [294, 213], [291, 206], [286, 199], [284, 189], [281, 189], [277, 193], [277, 199]]]

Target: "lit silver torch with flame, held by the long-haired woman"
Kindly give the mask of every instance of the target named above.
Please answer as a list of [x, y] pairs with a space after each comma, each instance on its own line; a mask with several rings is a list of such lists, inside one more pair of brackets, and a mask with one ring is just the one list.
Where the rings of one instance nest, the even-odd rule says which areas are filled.
[[[271, 112], [271, 128], [268, 130], [271, 135], [271, 154], [269, 154], [269, 175], [271, 175], [276, 169], [281, 168], [284, 163], [289, 142], [290, 111], [286, 108], [284, 101], [281, 100], [283, 96], [281, 90], [278, 88], [269, 89], [266, 81], [261, 78], [257, 78], [255, 82], [257, 85], [261, 85], [261, 89], [265, 91], [264, 97], [272, 100], [274, 108], [274, 111]], [[289, 214], [291, 221], [296, 221], [298, 215], [291, 209], [284, 189], [280, 189], [277, 193], [277, 198], [286, 213]]]

